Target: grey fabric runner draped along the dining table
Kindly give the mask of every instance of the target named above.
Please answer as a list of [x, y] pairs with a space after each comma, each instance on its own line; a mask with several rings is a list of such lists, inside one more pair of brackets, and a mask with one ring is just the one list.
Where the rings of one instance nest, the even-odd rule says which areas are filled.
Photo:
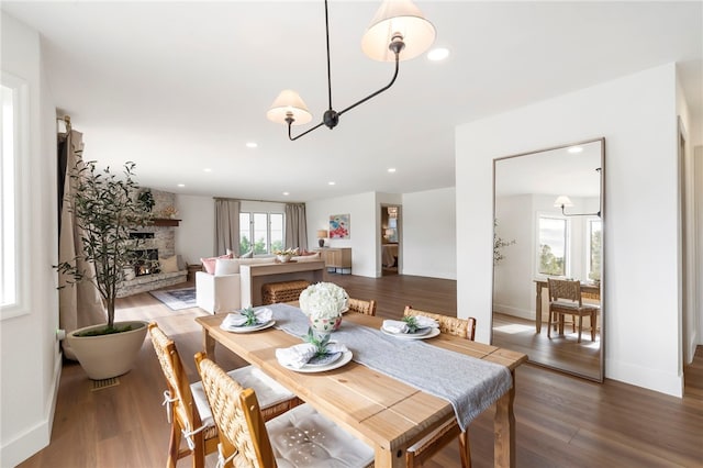
[[[308, 317], [288, 304], [271, 304], [276, 327], [291, 335], [308, 334]], [[462, 431], [512, 386], [505, 366], [454, 353], [422, 339], [399, 339], [342, 320], [333, 339], [346, 345], [353, 359], [451, 403]]]

